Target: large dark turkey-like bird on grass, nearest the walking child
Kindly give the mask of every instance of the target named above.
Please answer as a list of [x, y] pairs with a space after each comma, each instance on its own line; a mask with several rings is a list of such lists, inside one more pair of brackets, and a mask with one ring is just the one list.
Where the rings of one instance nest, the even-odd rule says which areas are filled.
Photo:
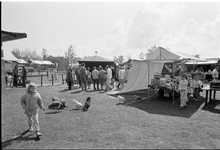
[[55, 110], [55, 112], [59, 112], [60, 109], [64, 109], [66, 106], [66, 102], [64, 99], [59, 99], [58, 97], [53, 97], [51, 104], [48, 106], [48, 109]]

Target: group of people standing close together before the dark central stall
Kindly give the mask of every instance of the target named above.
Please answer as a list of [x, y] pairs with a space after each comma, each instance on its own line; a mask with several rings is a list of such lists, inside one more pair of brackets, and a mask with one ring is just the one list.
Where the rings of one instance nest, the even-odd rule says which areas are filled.
[[92, 89], [92, 85], [95, 91], [111, 91], [115, 85], [118, 89], [124, 87], [128, 81], [130, 71], [130, 67], [127, 67], [125, 70], [123, 66], [113, 67], [109, 65], [106, 65], [105, 68], [101, 65], [98, 67], [94, 66], [93, 70], [90, 71], [90, 68], [86, 68], [86, 65], [82, 63], [76, 69], [68, 68], [66, 82], [69, 90], [71, 90], [74, 84], [74, 76], [76, 76], [82, 91]]

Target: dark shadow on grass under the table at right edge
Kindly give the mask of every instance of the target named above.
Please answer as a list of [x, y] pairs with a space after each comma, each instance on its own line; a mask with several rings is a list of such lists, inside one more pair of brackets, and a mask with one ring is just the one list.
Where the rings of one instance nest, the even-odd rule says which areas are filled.
[[204, 106], [202, 110], [220, 114], [220, 100], [211, 100], [211, 102]]

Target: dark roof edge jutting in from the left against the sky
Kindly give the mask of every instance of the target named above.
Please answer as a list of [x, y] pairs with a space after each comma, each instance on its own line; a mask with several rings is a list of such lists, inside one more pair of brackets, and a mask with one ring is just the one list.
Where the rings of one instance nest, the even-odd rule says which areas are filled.
[[7, 41], [12, 41], [12, 40], [27, 38], [27, 34], [1, 30], [1, 38], [2, 38], [2, 42], [7, 42]]

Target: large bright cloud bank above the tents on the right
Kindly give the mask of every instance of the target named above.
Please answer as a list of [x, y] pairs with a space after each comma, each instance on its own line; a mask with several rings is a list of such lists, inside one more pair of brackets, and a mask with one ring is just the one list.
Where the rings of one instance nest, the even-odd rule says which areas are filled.
[[[137, 8], [126, 24], [122, 18], [117, 20], [111, 34], [95, 39], [87, 45], [77, 46], [79, 57], [98, 55], [113, 59], [114, 56], [131, 56], [138, 59], [141, 52], [153, 45], [169, 48], [171, 51], [202, 57], [220, 56], [220, 15], [213, 21], [198, 23], [189, 18], [179, 27], [179, 33], [170, 33], [164, 26], [175, 22], [187, 9], [184, 3], [172, 3], [157, 8], [152, 3], [144, 3]], [[172, 28], [172, 26], [170, 26]], [[171, 29], [172, 30], [172, 29]]]

